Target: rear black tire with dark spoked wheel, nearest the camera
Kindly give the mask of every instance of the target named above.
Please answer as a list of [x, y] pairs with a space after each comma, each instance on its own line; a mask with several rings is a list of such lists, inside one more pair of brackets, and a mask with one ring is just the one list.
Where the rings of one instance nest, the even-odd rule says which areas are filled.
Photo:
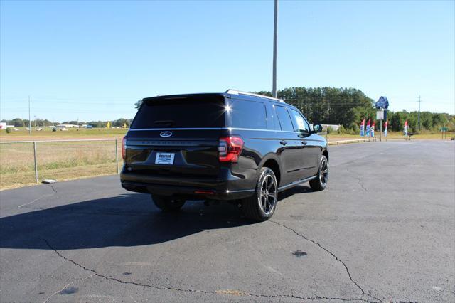
[[255, 194], [242, 199], [245, 217], [255, 221], [265, 221], [272, 218], [278, 201], [277, 177], [272, 169], [263, 167], [259, 173]]

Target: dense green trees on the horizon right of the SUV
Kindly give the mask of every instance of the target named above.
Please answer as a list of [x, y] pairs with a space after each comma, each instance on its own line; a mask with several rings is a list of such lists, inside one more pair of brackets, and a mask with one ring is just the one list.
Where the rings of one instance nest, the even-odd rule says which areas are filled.
[[[257, 92], [272, 96], [272, 92]], [[376, 119], [375, 100], [355, 88], [336, 87], [290, 87], [278, 91], [278, 97], [299, 108], [310, 122], [341, 124], [344, 129], [359, 131], [363, 119]], [[393, 100], [389, 100], [393, 104]], [[388, 112], [389, 130], [402, 131], [408, 120], [410, 129], [417, 132], [418, 112]], [[378, 122], [377, 122], [378, 123]], [[421, 129], [439, 130], [440, 127], [455, 128], [455, 115], [420, 112]], [[379, 127], [377, 127], [379, 128]]]

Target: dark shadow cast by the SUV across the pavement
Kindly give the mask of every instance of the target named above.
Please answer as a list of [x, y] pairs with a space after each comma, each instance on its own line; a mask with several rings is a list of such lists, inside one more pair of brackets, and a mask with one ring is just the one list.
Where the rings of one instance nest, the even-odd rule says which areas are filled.
[[[279, 198], [309, 191], [297, 186]], [[0, 248], [51, 249], [46, 240], [56, 250], [150, 245], [252, 223], [230, 203], [188, 201], [180, 213], [163, 213], [149, 195], [129, 193], [0, 218]]]

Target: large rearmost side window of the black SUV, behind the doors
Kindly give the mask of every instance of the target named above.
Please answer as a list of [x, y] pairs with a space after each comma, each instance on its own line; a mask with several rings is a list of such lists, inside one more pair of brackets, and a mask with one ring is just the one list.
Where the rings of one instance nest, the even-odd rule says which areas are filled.
[[229, 115], [232, 127], [267, 129], [267, 114], [262, 102], [232, 100]]

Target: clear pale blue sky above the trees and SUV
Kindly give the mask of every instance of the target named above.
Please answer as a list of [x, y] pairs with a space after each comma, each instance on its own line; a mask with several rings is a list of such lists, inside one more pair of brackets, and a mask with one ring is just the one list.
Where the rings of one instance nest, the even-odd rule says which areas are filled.
[[[278, 87], [455, 112], [455, 1], [280, 1]], [[0, 119], [134, 117], [141, 97], [272, 89], [273, 1], [1, 1]]]

